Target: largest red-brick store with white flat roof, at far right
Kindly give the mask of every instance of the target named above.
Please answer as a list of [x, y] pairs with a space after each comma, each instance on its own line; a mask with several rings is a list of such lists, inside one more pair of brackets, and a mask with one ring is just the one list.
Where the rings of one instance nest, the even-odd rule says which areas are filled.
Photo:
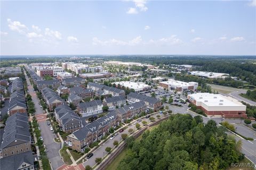
[[220, 94], [197, 93], [188, 95], [190, 103], [202, 109], [207, 116], [246, 118], [246, 106], [238, 100]]

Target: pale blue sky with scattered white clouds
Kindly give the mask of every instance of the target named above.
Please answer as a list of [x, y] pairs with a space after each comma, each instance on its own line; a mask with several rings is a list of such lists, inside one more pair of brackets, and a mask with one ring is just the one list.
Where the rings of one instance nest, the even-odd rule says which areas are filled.
[[1, 1], [1, 55], [256, 55], [253, 1]]

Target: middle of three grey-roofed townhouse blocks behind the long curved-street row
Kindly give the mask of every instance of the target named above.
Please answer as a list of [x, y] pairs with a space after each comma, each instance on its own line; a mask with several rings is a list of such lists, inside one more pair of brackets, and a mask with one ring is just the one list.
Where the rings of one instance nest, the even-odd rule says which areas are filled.
[[124, 96], [115, 96], [103, 99], [103, 106], [108, 106], [109, 111], [113, 111], [116, 107], [126, 105], [126, 99]]

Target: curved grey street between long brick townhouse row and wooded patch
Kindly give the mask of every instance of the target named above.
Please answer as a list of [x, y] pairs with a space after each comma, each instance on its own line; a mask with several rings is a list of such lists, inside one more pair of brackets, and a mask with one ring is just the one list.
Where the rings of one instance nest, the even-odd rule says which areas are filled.
[[[157, 119], [157, 116], [158, 114], [155, 114], [155, 115], [151, 115], [151, 117], [155, 117], [156, 119]], [[142, 121], [147, 121], [147, 122], [149, 122], [149, 119], [148, 118], [142, 118], [141, 119], [141, 122]], [[141, 123], [141, 122], [139, 122], [139, 124], [141, 125], [141, 127], [143, 126], [143, 124]], [[97, 150], [95, 150], [94, 152], [93, 152], [93, 156], [91, 157], [91, 158], [89, 158], [85, 163], [83, 163], [83, 165], [84, 165], [84, 167], [86, 166], [86, 165], [90, 165], [91, 167], [93, 167], [94, 165], [95, 165], [95, 158], [102, 158], [103, 157], [103, 155], [106, 155], [107, 154], [107, 152], [105, 151], [105, 149], [106, 149], [106, 147], [111, 147], [111, 148], [113, 148], [114, 147], [114, 145], [113, 145], [113, 142], [114, 142], [114, 140], [117, 140], [118, 142], [119, 141], [121, 141], [121, 135], [122, 134], [124, 134], [124, 133], [127, 133], [127, 134], [129, 134], [129, 129], [133, 129], [133, 130], [136, 130], [136, 128], [135, 128], [135, 124], [131, 124], [130, 126], [129, 126], [129, 128], [127, 128], [127, 129], [125, 129], [122, 133], [119, 133], [118, 132], [118, 135], [116, 135], [116, 137], [114, 138], [114, 139], [108, 139], [108, 141], [106, 141], [105, 143], [103, 143], [103, 145], [102, 146], [100, 146]]]

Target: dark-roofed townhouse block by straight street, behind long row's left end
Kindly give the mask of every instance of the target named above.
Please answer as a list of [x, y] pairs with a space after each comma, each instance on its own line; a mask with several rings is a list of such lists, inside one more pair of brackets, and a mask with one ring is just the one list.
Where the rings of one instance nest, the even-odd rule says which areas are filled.
[[67, 104], [56, 107], [54, 114], [63, 132], [71, 133], [82, 128], [81, 118]]

